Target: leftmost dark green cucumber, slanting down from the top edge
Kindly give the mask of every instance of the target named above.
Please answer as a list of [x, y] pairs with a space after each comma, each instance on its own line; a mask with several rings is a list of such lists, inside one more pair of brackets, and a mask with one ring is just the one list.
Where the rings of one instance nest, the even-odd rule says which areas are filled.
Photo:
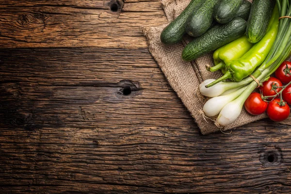
[[195, 12], [202, 5], [204, 0], [192, 0], [186, 9], [161, 33], [161, 41], [166, 45], [178, 43], [182, 40], [183, 35], [186, 33], [185, 25], [187, 18]]

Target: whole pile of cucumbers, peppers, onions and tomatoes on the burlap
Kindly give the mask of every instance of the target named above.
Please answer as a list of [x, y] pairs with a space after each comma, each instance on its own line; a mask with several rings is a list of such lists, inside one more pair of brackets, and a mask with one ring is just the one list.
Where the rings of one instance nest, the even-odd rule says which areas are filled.
[[186, 33], [195, 38], [182, 59], [214, 51], [214, 66], [207, 69], [224, 74], [199, 85], [201, 95], [210, 97], [203, 112], [216, 117], [218, 126], [234, 122], [243, 107], [253, 115], [267, 112], [275, 122], [289, 117], [291, 0], [192, 0], [162, 31], [161, 41], [175, 44]]

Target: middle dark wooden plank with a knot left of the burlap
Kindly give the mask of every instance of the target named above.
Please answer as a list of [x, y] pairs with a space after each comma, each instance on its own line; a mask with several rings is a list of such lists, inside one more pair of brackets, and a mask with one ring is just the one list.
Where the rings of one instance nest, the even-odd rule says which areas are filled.
[[[95, 125], [96, 119], [100, 125], [105, 126], [142, 123], [152, 125], [157, 120], [164, 122], [167, 118], [175, 117], [175, 120], [187, 118], [187, 123], [194, 123], [183, 105], [176, 103], [179, 101], [178, 97], [164, 80], [161, 70], [146, 49], [135, 52], [93, 48], [48, 51], [5, 49], [0, 52], [1, 92], [2, 99], [5, 100], [3, 109], [15, 107], [20, 113], [24, 110], [33, 112], [33, 115], [45, 113], [45, 117], [37, 116], [38, 122], [58, 117], [71, 121], [81, 119], [89, 126]], [[66, 58], [65, 55], [69, 57]], [[72, 61], [76, 62], [73, 64]], [[148, 81], [149, 79], [152, 81]], [[131, 88], [129, 96], [123, 95], [123, 90], [127, 87]], [[26, 105], [22, 101], [34, 101], [35, 104]], [[120, 105], [116, 107], [118, 102]], [[178, 110], [169, 112], [172, 107], [178, 107]], [[159, 111], [152, 112], [153, 108]], [[72, 115], [67, 117], [62, 113], [64, 110]], [[79, 115], [83, 111], [85, 119]], [[75, 113], [77, 114], [74, 115]], [[135, 119], [137, 113], [144, 119]], [[14, 119], [9, 119], [12, 115], [6, 114], [4, 120], [14, 122]], [[29, 115], [31, 114], [27, 113], [23, 117], [30, 117]], [[154, 117], [157, 120], [151, 119]], [[109, 124], [109, 120], [113, 123]], [[167, 126], [178, 126], [175, 120], [168, 122]], [[75, 124], [84, 125], [83, 122]]]

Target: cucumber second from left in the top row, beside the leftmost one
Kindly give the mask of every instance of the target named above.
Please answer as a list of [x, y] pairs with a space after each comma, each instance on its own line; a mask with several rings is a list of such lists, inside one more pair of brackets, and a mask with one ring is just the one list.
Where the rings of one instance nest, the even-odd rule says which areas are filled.
[[190, 15], [186, 22], [186, 32], [190, 36], [201, 36], [211, 26], [213, 10], [219, 0], [205, 0], [202, 6]]

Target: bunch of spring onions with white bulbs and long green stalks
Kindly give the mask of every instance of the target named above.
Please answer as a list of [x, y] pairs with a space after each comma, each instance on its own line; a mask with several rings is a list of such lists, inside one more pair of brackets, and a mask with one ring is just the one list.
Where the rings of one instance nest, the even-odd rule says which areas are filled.
[[[291, 1], [291, 0], [290, 0]], [[291, 8], [289, 0], [276, 0], [280, 16], [291, 16]], [[291, 55], [291, 18], [281, 18], [279, 25], [279, 32], [275, 43], [262, 65], [252, 74], [252, 76], [262, 83], [269, 79], [271, 74]], [[231, 101], [221, 109], [217, 123], [220, 126], [226, 126], [233, 123], [241, 114], [243, 104], [247, 97], [258, 87], [257, 81], [248, 77], [239, 82], [219, 82], [210, 88], [205, 86], [213, 80], [206, 80], [200, 85], [200, 92], [202, 95], [208, 97], [216, 97], [225, 93], [227, 90], [239, 89], [235, 92], [225, 96]], [[204, 86], [204, 87], [203, 87]], [[214, 91], [214, 93], [211, 92]], [[238, 95], [239, 92], [242, 92]], [[217, 98], [218, 99], [218, 98]], [[212, 102], [213, 103], [213, 102]], [[214, 102], [215, 103], [215, 102]], [[207, 106], [205, 107], [207, 108]], [[208, 110], [206, 110], [207, 112]], [[204, 111], [205, 112], [205, 111]], [[209, 113], [208, 113], [209, 114]], [[213, 112], [214, 114], [214, 112]], [[212, 115], [211, 115], [212, 116]]]

